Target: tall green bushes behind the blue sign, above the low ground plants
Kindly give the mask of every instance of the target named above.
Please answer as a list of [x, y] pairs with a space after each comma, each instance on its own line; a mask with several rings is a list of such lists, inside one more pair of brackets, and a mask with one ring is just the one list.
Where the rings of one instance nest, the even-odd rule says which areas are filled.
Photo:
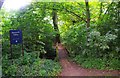
[[[45, 11], [47, 3], [32, 3], [18, 12], [3, 12], [2, 16], [2, 44], [3, 54], [9, 54], [9, 30], [20, 29], [23, 33], [23, 47], [27, 52], [36, 51], [39, 54], [52, 52], [54, 29], [49, 23], [46, 15], [50, 16], [49, 11]], [[44, 9], [44, 10], [43, 10]], [[2, 12], [2, 11], [1, 11]], [[18, 50], [19, 48], [19, 50]], [[13, 54], [20, 52], [17, 45], [13, 46]], [[14, 56], [13, 55], [13, 56]], [[18, 53], [20, 55], [20, 53]], [[15, 55], [15, 57], [18, 57]]]

